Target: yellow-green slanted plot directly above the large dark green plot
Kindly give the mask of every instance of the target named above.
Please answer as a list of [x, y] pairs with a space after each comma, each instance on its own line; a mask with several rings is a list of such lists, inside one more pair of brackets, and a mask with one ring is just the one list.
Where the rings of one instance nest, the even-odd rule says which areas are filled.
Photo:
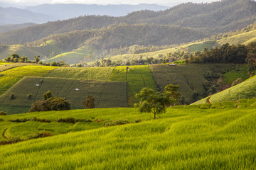
[[48, 77], [65, 79], [92, 79], [108, 81], [114, 67], [90, 67], [90, 68], [67, 68], [54, 69]]

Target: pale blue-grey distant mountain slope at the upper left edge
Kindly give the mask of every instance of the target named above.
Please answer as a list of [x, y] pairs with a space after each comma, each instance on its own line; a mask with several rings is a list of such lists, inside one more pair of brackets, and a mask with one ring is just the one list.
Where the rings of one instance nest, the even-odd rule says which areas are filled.
[[0, 7], [0, 25], [20, 24], [20, 23], [46, 23], [54, 21], [51, 16], [21, 8], [1, 8]]

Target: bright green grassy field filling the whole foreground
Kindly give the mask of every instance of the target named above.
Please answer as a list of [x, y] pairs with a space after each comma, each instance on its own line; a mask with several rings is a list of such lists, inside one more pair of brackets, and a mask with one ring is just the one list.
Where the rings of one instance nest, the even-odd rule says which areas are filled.
[[[95, 120], [125, 119], [103, 128]], [[255, 108], [168, 109], [152, 119], [134, 108], [107, 108], [0, 116], [4, 137], [53, 137], [0, 146], [2, 169], [255, 169]], [[51, 123], [11, 123], [41, 118]], [[92, 122], [57, 123], [58, 118]], [[141, 123], [131, 123], [141, 119]], [[101, 128], [102, 127], [102, 128]], [[75, 132], [80, 131], [80, 132]], [[68, 132], [68, 133], [67, 133]], [[65, 134], [66, 133], [66, 134]], [[58, 135], [63, 134], [63, 135]], [[1, 140], [5, 140], [1, 137]], [[110, 159], [111, 158], [111, 159]], [[22, 164], [21, 164], [22, 162]]]

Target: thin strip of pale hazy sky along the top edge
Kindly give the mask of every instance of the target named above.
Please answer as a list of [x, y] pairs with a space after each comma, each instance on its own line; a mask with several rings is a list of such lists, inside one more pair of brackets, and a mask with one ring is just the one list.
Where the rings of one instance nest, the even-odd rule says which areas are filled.
[[183, 2], [206, 3], [218, 0], [0, 0], [4, 3], [17, 3], [26, 6], [38, 4], [159, 4], [164, 6], [174, 6]]

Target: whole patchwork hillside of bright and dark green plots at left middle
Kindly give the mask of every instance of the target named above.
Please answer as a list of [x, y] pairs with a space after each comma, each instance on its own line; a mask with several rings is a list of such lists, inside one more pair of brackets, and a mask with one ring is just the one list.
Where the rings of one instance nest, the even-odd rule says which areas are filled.
[[[132, 66], [128, 72], [124, 66], [56, 68], [17, 65], [16, 68], [11, 65], [1, 72], [0, 77], [0, 111], [9, 114], [27, 112], [31, 103], [41, 100], [48, 90], [53, 96], [67, 98], [72, 108], [83, 108], [82, 103], [88, 95], [95, 97], [97, 108], [109, 108], [133, 106], [137, 101], [135, 94], [143, 87], [156, 89], [148, 66]], [[33, 73], [29, 73], [31, 69]], [[10, 94], [14, 94], [15, 99], [11, 100]], [[32, 98], [28, 99], [28, 94]]]

